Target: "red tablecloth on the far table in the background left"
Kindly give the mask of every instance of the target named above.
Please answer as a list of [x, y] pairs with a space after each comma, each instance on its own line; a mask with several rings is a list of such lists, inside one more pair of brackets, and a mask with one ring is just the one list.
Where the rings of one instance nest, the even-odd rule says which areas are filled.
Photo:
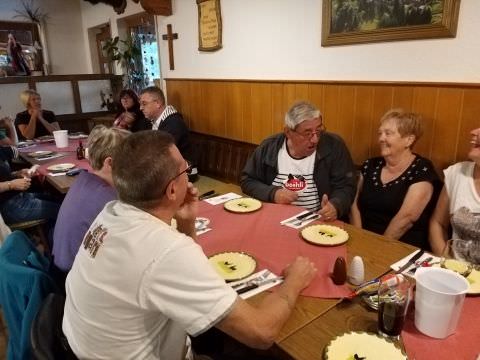
[[39, 161], [38, 163], [40, 165], [40, 168], [38, 169], [38, 173], [41, 176], [45, 176], [49, 173], [49, 171], [47, 170], [47, 167], [55, 164], [64, 164], [64, 163], [72, 163], [79, 168], [91, 171], [92, 168], [88, 160], [77, 159], [77, 147], [78, 147], [79, 141], [82, 141], [84, 145], [86, 144], [86, 139], [69, 140], [68, 147], [66, 148], [59, 149], [55, 146], [54, 142], [50, 142], [50, 143], [42, 143], [42, 144], [36, 144], [34, 146], [29, 146], [28, 148], [19, 149], [19, 151], [27, 154], [35, 151], [53, 151], [53, 152], [65, 155], [65, 156], [61, 156], [53, 159]]

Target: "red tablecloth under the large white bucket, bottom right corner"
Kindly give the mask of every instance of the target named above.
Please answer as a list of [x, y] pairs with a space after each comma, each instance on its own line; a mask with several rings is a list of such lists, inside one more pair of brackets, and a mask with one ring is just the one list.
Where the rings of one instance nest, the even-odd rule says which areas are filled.
[[455, 334], [434, 339], [422, 334], [409, 313], [402, 339], [409, 359], [415, 360], [476, 360], [480, 354], [480, 297], [467, 297]]

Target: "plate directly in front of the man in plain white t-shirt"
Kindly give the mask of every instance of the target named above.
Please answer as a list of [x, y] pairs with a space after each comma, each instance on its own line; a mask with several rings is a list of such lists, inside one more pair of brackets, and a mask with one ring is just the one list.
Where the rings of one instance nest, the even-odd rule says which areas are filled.
[[244, 252], [222, 252], [208, 258], [215, 271], [226, 281], [236, 281], [254, 273], [256, 260]]

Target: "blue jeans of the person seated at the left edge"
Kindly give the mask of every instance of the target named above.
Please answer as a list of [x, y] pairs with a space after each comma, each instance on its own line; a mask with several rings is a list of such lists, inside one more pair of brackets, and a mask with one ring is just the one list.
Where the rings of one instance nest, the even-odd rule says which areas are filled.
[[0, 212], [7, 224], [23, 221], [57, 219], [60, 204], [49, 194], [21, 192], [0, 204]]

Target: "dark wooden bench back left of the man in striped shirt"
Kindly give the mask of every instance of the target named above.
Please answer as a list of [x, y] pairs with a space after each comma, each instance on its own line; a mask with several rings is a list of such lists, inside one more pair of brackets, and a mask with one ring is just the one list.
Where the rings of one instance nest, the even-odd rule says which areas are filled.
[[225, 139], [213, 135], [190, 132], [192, 160], [200, 175], [233, 184], [240, 183], [240, 175], [257, 145]]

